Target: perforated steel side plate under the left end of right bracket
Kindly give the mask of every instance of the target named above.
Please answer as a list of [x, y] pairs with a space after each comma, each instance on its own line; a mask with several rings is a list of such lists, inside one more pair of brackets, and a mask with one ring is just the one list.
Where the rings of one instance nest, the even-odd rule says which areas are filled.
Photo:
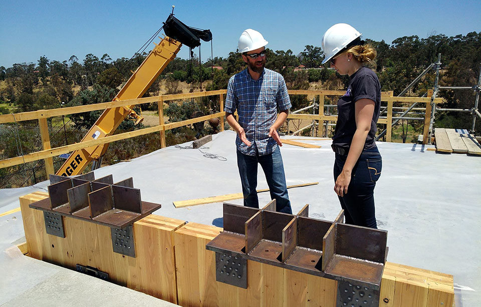
[[247, 259], [232, 253], [215, 253], [217, 281], [247, 289]]

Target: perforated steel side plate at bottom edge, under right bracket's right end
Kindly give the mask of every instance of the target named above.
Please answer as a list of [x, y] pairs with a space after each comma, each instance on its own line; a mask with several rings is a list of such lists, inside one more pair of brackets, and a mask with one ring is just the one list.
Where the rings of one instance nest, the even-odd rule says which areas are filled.
[[379, 295], [379, 290], [374, 290], [350, 281], [339, 281], [336, 306], [377, 307], [379, 306]]

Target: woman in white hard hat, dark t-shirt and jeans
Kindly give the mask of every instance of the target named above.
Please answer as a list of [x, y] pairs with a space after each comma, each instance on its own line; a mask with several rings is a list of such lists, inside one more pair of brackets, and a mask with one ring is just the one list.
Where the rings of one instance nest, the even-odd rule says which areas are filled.
[[338, 103], [332, 148], [334, 191], [347, 224], [377, 228], [374, 187], [381, 175], [381, 155], [374, 141], [381, 105], [381, 85], [371, 69], [376, 51], [363, 45], [361, 34], [347, 24], [329, 28], [322, 39], [326, 58], [340, 75], [349, 75], [346, 94]]

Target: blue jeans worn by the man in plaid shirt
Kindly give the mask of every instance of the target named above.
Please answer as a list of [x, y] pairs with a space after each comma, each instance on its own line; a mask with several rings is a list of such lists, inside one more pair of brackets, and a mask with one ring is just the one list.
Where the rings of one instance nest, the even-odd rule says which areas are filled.
[[259, 208], [257, 197], [257, 164], [261, 164], [271, 192], [271, 199], [276, 199], [276, 211], [292, 214], [291, 202], [287, 193], [286, 175], [282, 163], [281, 150], [277, 147], [272, 154], [249, 156], [237, 150], [237, 166], [244, 194], [244, 205]]

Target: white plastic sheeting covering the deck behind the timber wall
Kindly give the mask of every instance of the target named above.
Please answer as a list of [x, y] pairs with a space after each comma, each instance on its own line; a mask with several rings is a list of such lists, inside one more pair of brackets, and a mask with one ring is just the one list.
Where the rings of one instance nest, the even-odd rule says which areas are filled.
[[[201, 149], [227, 161], [206, 158], [197, 149], [172, 146], [98, 169], [95, 177], [112, 174], [114, 182], [133, 177], [142, 200], [162, 204], [154, 214], [222, 226], [221, 203], [176, 209], [172, 202], [241, 192], [234, 140], [235, 133], [225, 131], [214, 135], [212, 142], [204, 145], [208, 148]], [[333, 191], [331, 141], [302, 142], [322, 148], [287, 144], [281, 148], [287, 184], [319, 184], [289, 190], [293, 212], [309, 203], [311, 217], [333, 220], [341, 208]], [[456, 305], [476, 305], [481, 299], [481, 157], [436, 154], [426, 151], [433, 146], [416, 144], [377, 145], [383, 169], [375, 189], [376, 217], [378, 227], [388, 230], [388, 261], [453, 274]], [[261, 188], [267, 188], [267, 183], [259, 167]], [[13, 194], [12, 190], [0, 190], [0, 213], [17, 206], [12, 197], [5, 196]], [[269, 193], [260, 193], [259, 200], [261, 205], [267, 204]], [[243, 200], [229, 202], [242, 204]], [[16, 223], [21, 224], [20, 214], [17, 217]], [[1, 233], [9, 227], [14, 229], [12, 223], [0, 222]], [[21, 228], [15, 227], [14, 233], [9, 233], [10, 242], [24, 235]], [[5, 250], [6, 246], [1, 247]], [[3, 257], [0, 261], [4, 266], [9, 260]]]

